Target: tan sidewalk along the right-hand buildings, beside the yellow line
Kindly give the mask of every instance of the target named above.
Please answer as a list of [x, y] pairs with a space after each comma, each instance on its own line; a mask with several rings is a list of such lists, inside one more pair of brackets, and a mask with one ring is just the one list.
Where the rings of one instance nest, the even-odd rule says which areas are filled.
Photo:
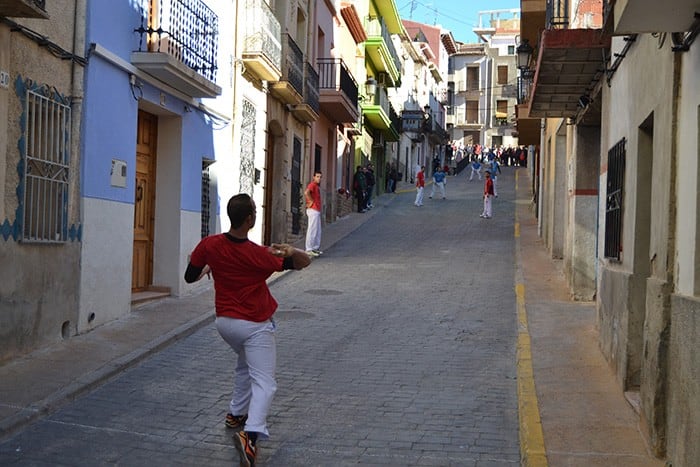
[[[524, 169], [518, 176], [518, 267], [546, 454], [546, 463], [526, 465], [664, 465], [649, 453], [639, 417], [598, 347], [595, 302], [569, 299], [561, 260], [553, 260], [537, 236], [530, 179]], [[536, 459], [523, 449], [524, 457]]]

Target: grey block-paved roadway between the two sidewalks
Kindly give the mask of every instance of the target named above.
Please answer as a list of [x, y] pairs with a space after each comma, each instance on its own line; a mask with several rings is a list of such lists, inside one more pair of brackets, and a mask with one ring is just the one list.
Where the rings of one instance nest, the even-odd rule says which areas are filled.
[[[493, 219], [466, 174], [420, 208], [387, 195], [272, 285], [279, 389], [259, 463], [519, 463], [513, 173]], [[0, 464], [231, 465], [232, 371], [208, 325], [5, 440]]]

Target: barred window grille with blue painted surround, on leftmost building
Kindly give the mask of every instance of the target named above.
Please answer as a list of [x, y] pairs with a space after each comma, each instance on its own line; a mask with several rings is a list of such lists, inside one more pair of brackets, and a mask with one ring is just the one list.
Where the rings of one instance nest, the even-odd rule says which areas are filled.
[[68, 240], [71, 109], [53, 92], [27, 90], [22, 241]]

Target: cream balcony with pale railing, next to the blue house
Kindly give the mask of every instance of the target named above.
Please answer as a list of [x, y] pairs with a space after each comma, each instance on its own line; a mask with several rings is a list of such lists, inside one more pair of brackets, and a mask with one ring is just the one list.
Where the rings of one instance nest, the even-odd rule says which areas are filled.
[[245, 10], [243, 64], [258, 79], [279, 81], [282, 76], [282, 32], [279, 21], [263, 0], [250, 0]]

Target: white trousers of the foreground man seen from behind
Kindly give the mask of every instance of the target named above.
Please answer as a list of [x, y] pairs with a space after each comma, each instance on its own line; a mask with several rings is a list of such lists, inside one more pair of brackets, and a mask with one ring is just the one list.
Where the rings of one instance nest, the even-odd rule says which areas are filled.
[[258, 433], [258, 439], [267, 439], [270, 436], [267, 414], [277, 391], [275, 322], [270, 319], [255, 323], [219, 316], [216, 330], [238, 354], [229, 411], [233, 415], [247, 414], [245, 431]]

